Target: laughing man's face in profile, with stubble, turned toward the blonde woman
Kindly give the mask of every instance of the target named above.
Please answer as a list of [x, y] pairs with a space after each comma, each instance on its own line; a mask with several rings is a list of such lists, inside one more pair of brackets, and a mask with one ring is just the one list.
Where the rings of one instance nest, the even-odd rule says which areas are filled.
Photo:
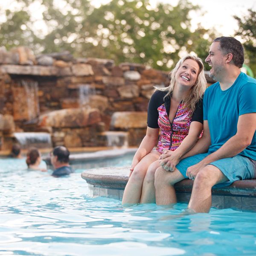
[[220, 42], [213, 42], [210, 50], [209, 50], [209, 55], [205, 59], [205, 62], [209, 64], [211, 68], [209, 76], [215, 80], [218, 81], [218, 78], [221, 76], [221, 71], [223, 70], [224, 67], [224, 57], [223, 53], [219, 49], [219, 44]]

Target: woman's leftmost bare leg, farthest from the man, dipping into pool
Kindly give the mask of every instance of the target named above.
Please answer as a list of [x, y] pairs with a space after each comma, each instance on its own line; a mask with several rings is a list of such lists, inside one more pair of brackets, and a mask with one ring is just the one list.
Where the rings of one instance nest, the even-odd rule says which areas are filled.
[[148, 166], [156, 161], [160, 156], [157, 151], [151, 151], [135, 166], [128, 183], [125, 186], [122, 204], [138, 204], [140, 203], [141, 190], [143, 180], [147, 172]]

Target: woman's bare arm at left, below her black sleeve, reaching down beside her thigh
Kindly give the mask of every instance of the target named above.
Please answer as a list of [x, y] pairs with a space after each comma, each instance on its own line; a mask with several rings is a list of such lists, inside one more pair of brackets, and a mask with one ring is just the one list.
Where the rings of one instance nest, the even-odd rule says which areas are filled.
[[140, 160], [145, 157], [145, 155], [148, 154], [157, 144], [158, 133], [159, 128], [147, 128], [146, 135], [140, 143], [140, 147], [136, 151], [132, 160], [131, 171], [134, 170], [134, 167], [137, 165], [137, 163], [139, 163]]

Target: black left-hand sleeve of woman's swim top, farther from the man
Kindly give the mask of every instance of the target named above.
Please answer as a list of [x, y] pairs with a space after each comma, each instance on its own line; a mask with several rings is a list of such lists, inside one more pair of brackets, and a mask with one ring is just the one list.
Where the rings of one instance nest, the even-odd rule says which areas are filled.
[[163, 96], [166, 94], [166, 92], [162, 91], [155, 91], [149, 102], [148, 102], [148, 127], [150, 128], [159, 128], [158, 126], [158, 111], [157, 108], [163, 104]]

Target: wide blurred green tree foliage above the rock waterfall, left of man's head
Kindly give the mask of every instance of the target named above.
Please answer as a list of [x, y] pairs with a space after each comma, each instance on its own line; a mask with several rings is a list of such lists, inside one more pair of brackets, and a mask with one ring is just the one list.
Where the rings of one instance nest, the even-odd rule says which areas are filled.
[[19, 2], [22, 10], [6, 13], [8, 20], [0, 25], [4, 34], [0, 42], [7, 48], [21, 44], [33, 46], [38, 53], [69, 50], [76, 57], [110, 58], [116, 64], [128, 61], [169, 70], [184, 52], [204, 59], [215, 37], [203, 28], [191, 32], [189, 12], [199, 7], [187, 0], [177, 6], [158, 3], [154, 8], [148, 0], [112, 0], [99, 8], [89, 0], [63, 0], [61, 6], [41, 0], [48, 31], [44, 36], [32, 30], [28, 7], [33, 1]]

